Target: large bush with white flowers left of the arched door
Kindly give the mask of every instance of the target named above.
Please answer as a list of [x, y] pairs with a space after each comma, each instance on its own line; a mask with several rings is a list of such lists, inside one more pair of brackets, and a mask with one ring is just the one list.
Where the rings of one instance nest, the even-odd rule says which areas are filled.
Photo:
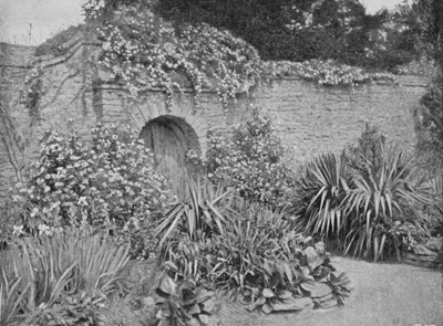
[[48, 132], [29, 181], [16, 188], [11, 211], [25, 232], [90, 224], [131, 242], [132, 255], [147, 254], [151, 224], [171, 198], [153, 155], [123, 125], [99, 124], [89, 144]]

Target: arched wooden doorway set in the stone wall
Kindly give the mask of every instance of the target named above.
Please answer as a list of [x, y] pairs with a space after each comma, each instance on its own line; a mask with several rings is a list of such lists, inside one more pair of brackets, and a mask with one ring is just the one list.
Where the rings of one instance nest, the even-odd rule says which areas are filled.
[[186, 172], [195, 167], [186, 159], [189, 149], [198, 155], [200, 147], [193, 127], [176, 116], [159, 116], [150, 120], [142, 129], [140, 138], [154, 154], [162, 173], [172, 181], [173, 193], [179, 199], [186, 197]]

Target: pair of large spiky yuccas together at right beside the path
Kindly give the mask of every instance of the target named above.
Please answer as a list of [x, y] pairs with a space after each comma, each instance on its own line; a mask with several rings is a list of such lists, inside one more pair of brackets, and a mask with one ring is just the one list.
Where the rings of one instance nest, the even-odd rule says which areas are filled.
[[324, 154], [306, 164], [296, 182], [295, 211], [306, 231], [378, 260], [396, 222], [420, 223], [420, 211], [432, 199], [425, 181], [412, 156], [367, 125], [342, 156]]

